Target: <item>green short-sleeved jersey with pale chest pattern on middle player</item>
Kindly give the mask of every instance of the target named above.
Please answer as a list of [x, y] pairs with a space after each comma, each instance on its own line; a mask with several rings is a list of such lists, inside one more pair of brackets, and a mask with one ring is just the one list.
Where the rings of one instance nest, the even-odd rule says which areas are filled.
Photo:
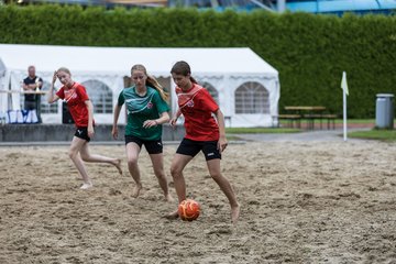
[[146, 88], [145, 96], [138, 95], [134, 86], [124, 88], [120, 92], [118, 105], [121, 107], [125, 103], [128, 113], [125, 135], [133, 135], [147, 141], [160, 140], [162, 125], [144, 129], [143, 122], [158, 119], [161, 113], [169, 111], [169, 107], [156, 89], [150, 86]]

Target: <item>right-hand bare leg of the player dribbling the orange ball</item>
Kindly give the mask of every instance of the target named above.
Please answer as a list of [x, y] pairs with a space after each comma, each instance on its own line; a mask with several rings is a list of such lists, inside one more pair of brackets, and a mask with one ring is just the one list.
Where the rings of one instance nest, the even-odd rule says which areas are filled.
[[210, 176], [219, 185], [224, 193], [231, 206], [231, 221], [237, 222], [240, 215], [240, 205], [237, 201], [235, 193], [233, 191], [230, 182], [221, 174], [220, 158], [207, 161]]

